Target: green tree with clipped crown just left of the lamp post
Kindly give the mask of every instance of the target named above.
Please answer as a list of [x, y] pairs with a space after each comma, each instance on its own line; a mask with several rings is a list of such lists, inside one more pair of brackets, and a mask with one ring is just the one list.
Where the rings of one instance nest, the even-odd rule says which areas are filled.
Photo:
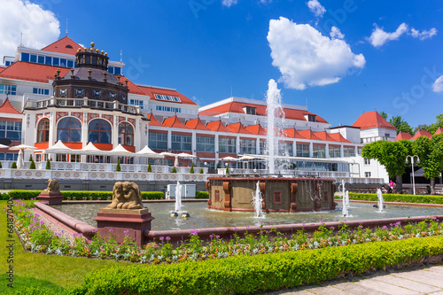
[[361, 150], [361, 156], [366, 159], [377, 159], [385, 166], [386, 172], [390, 178], [395, 177], [397, 185], [395, 190], [400, 193], [403, 190], [403, 181], [401, 175], [405, 173], [406, 157], [412, 151], [412, 142], [400, 140], [398, 142], [377, 141], [366, 144]]

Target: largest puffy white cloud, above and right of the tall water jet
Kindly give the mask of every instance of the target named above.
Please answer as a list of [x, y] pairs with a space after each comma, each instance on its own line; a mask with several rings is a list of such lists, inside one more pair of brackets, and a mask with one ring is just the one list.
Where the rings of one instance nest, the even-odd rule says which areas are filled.
[[269, 21], [268, 42], [272, 65], [282, 73], [280, 81], [292, 89], [336, 83], [366, 63], [345, 41], [330, 39], [314, 27], [284, 17]]

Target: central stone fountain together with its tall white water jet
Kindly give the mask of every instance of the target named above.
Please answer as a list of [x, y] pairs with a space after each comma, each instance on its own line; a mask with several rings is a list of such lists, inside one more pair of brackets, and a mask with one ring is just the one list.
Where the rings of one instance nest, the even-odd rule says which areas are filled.
[[[298, 212], [335, 209], [335, 180], [328, 178], [284, 177], [282, 165], [276, 167], [279, 130], [284, 113], [280, 90], [274, 80], [268, 82], [268, 175], [208, 177], [208, 208], [222, 211], [255, 211], [253, 196], [260, 190], [263, 212]], [[281, 163], [280, 163], [281, 164]], [[288, 171], [293, 173], [293, 171]], [[256, 188], [258, 183], [259, 189]], [[255, 193], [255, 194], [254, 194]]]

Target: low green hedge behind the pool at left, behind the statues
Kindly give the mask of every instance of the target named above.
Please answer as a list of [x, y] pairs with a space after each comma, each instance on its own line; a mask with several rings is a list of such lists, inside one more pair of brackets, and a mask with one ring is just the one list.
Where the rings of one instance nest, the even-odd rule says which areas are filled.
[[[3, 193], [1, 195], [2, 199], [30, 199], [37, 198], [38, 195], [42, 192], [42, 190], [10, 190], [7, 193]], [[113, 196], [112, 191], [96, 191], [96, 190], [61, 190], [63, 194], [63, 199], [67, 199], [68, 197], [76, 200], [83, 200], [83, 197], [89, 198], [92, 197], [93, 200], [107, 199], [108, 197]], [[161, 191], [142, 191], [143, 199], [161, 199], [164, 198], [165, 194]], [[90, 199], [90, 198], [89, 198]]]

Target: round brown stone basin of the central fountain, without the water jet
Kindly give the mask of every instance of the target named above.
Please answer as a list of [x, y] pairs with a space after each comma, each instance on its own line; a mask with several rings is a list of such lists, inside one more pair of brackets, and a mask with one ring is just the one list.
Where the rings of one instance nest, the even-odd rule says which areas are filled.
[[259, 182], [262, 211], [303, 212], [334, 210], [335, 180], [295, 177], [208, 177], [208, 208], [255, 211], [253, 194]]

